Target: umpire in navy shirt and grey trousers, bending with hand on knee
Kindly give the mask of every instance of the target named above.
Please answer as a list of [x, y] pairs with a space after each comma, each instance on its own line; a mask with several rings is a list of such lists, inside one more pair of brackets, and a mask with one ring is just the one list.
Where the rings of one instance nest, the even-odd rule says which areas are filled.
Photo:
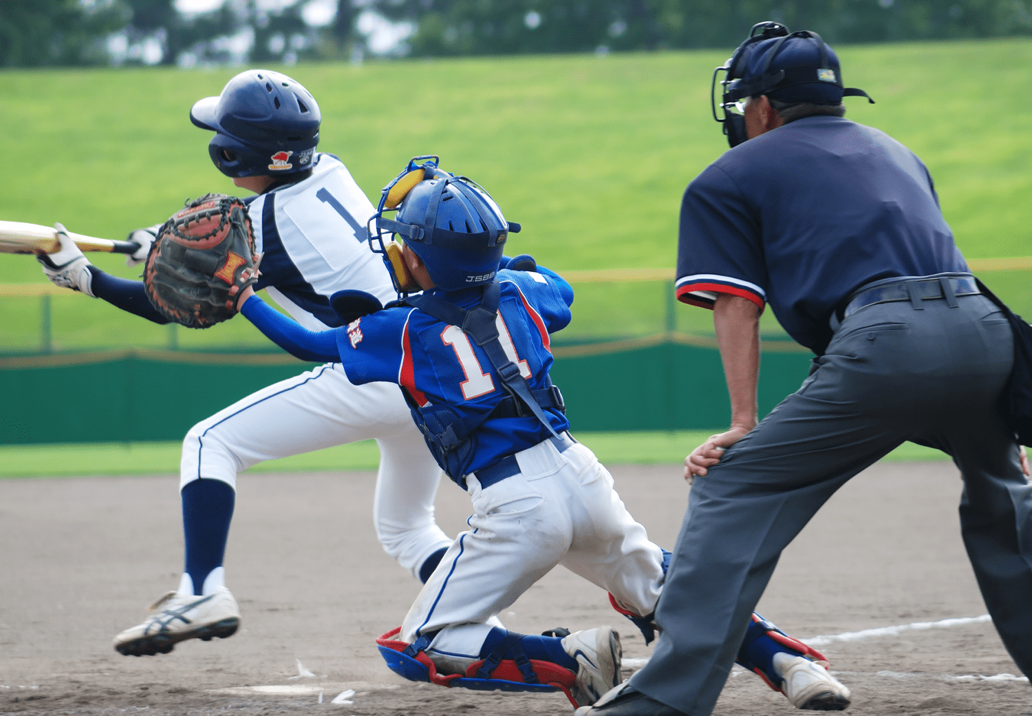
[[[1032, 487], [999, 402], [1009, 324], [979, 294], [921, 160], [843, 118], [843, 95], [864, 93], [843, 87], [820, 37], [762, 23], [722, 69], [732, 150], [684, 194], [677, 295], [713, 309], [732, 427], [685, 460], [699, 478], [656, 612], [664, 639], [630, 685], [578, 714], [710, 714], [781, 550], [905, 440], [960, 468], [968, 556], [1032, 676]], [[816, 357], [757, 425], [768, 303]]]

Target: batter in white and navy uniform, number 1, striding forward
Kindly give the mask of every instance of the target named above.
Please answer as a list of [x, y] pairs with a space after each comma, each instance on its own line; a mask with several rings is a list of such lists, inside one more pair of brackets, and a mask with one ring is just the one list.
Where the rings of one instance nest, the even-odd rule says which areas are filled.
[[[393, 298], [383, 262], [365, 247], [373, 205], [340, 159], [316, 151], [321, 117], [308, 90], [278, 72], [248, 70], [220, 96], [194, 104], [190, 119], [215, 132], [208, 152], [219, 170], [257, 194], [247, 199], [262, 254], [256, 287], [315, 331], [342, 324], [329, 301], [338, 290]], [[132, 235], [143, 244], [133, 256], [137, 262], [157, 229]], [[61, 246], [43, 261], [54, 283], [167, 322], [141, 282], [91, 266], [63, 235]], [[116, 636], [115, 648], [137, 656], [167, 653], [186, 639], [232, 634], [239, 612], [225, 587], [223, 555], [237, 473], [264, 460], [367, 438], [377, 440], [381, 456], [377, 534], [389, 555], [425, 581], [452, 541], [433, 520], [441, 470], [397, 385], [357, 385], [340, 364], [329, 363], [248, 396], [190, 430], [181, 464], [183, 578], [147, 621]]]

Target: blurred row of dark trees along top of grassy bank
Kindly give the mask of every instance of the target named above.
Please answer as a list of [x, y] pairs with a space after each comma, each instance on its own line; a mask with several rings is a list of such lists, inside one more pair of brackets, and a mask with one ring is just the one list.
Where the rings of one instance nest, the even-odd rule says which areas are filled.
[[[363, 51], [356, 20], [366, 9], [412, 23], [407, 52], [417, 57], [730, 53], [763, 20], [814, 30], [832, 43], [1032, 35], [1032, 0], [336, 0], [325, 28], [305, 23], [307, 1], [271, 10], [257, 0], [224, 0], [209, 12], [183, 14], [173, 0], [0, 0], [0, 66], [354, 57]], [[111, 38], [131, 52], [112, 50]]]

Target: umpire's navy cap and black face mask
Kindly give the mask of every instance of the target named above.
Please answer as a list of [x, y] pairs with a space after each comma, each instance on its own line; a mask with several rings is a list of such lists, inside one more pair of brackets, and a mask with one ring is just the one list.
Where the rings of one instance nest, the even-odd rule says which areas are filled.
[[[717, 116], [716, 75], [723, 70], [723, 92]], [[745, 122], [732, 112], [746, 97], [765, 94], [784, 102], [839, 104], [842, 97], [868, 97], [864, 90], [845, 87], [835, 52], [815, 32], [788, 32], [781, 23], [756, 23], [749, 36], [735, 50], [723, 66], [713, 70], [710, 102], [713, 119], [723, 123], [728, 143], [735, 147], [745, 142]]]

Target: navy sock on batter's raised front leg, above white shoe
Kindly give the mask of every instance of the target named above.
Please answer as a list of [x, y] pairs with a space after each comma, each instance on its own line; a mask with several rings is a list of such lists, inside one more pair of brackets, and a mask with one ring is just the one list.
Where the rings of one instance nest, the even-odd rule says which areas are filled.
[[195, 479], [180, 494], [186, 539], [184, 570], [193, 580], [194, 594], [201, 594], [204, 579], [213, 569], [222, 566], [236, 491], [221, 479]]

